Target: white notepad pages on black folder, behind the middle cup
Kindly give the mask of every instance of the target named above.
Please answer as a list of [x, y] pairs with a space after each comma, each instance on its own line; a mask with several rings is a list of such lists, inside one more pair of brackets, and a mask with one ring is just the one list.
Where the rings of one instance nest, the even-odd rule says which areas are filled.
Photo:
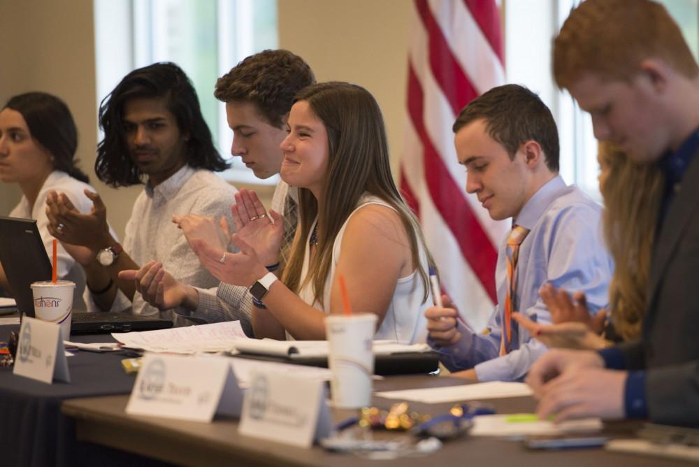
[[[400, 354], [405, 352], [428, 352], [426, 344], [402, 344], [396, 340], [374, 340], [375, 355]], [[327, 357], [327, 340], [274, 340], [248, 339], [238, 341], [235, 345], [238, 352], [248, 354], [271, 355], [273, 357]]]

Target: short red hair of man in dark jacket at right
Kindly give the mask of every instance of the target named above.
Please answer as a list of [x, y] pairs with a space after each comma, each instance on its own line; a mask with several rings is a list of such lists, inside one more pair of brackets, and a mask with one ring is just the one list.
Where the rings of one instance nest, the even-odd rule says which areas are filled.
[[642, 60], [663, 59], [687, 78], [699, 74], [682, 31], [665, 7], [649, 0], [586, 0], [554, 38], [556, 84], [567, 88], [586, 72], [629, 81]]

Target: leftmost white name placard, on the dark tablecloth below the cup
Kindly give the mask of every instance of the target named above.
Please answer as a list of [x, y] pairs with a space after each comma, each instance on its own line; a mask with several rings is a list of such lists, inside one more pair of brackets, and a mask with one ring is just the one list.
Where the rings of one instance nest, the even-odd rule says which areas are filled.
[[71, 382], [60, 324], [22, 318], [13, 373], [48, 384]]

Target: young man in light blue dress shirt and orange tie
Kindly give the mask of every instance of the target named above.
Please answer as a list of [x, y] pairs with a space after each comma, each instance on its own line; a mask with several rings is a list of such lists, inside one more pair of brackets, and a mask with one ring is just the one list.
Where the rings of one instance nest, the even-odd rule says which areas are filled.
[[[563, 182], [556, 123], [525, 87], [495, 87], [474, 99], [456, 118], [454, 133], [456, 154], [468, 171], [466, 191], [477, 195], [494, 220], [511, 217], [512, 226], [524, 228], [526, 236], [515, 253], [512, 297], [507, 273], [512, 247], [506, 239], [500, 245], [498, 304], [487, 329], [471, 329], [445, 296], [442, 308], [426, 311], [428, 342], [463, 378], [521, 380], [547, 347], [519, 329], [510, 312], [550, 322], [539, 296], [547, 282], [584, 292], [591, 313], [607, 306], [614, 266], [603, 245], [601, 207]], [[503, 328], [510, 329], [505, 338]]]

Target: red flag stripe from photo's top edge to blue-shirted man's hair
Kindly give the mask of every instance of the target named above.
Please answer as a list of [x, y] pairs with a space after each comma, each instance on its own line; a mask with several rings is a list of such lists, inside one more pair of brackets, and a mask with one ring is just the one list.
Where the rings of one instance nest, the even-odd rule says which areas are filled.
[[[435, 80], [444, 92], [454, 115], [459, 115], [461, 108], [478, 96], [471, 82], [456, 62], [447, 39], [427, 4], [427, 0], [415, 0], [415, 6], [428, 34], [430, 69]], [[468, 44], [465, 44], [468, 47]]]

